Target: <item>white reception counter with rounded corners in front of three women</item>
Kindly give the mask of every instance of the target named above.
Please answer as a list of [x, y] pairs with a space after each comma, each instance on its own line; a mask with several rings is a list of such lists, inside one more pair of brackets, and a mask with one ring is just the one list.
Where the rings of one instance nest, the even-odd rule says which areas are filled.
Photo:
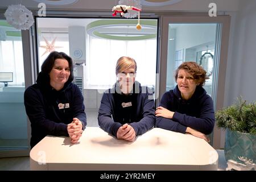
[[154, 128], [134, 142], [86, 127], [77, 144], [47, 136], [30, 152], [31, 170], [217, 170], [218, 154], [205, 140]]

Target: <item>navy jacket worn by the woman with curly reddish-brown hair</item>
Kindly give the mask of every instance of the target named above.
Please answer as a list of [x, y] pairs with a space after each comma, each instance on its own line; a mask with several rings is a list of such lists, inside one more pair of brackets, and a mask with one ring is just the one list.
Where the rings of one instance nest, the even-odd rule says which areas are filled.
[[215, 122], [213, 101], [203, 87], [196, 86], [195, 93], [186, 101], [176, 86], [163, 94], [159, 106], [175, 113], [172, 119], [156, 117], [156, 127], [180, 133], [191, 127], [206, 135], [212, 133]]

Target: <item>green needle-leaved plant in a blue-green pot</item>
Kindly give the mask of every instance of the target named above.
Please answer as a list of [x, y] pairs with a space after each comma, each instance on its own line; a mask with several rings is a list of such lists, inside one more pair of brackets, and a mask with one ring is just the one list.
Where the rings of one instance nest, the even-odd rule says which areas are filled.
[[225, 158], [244, 157], [256, 163], [256, 103], [237, 99], [236, 104], [218, 110], [218, 127], [226, 129]]

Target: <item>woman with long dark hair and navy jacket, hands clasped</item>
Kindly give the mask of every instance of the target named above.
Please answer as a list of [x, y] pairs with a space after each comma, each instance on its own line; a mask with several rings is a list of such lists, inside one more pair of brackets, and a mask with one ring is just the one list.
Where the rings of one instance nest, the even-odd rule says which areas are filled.
[[41, 67], [36, 84], [24, 92], [31, 122], [31, 148], [46, 135], [69, 136], [72, 143], [86, 126], [84, 98], [73, 81], [73, 61], [64, 52], [51, 52]]

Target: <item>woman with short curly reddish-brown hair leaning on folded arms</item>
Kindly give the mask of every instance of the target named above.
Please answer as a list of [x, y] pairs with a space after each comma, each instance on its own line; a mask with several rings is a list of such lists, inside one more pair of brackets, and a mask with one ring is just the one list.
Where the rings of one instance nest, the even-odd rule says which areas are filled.
[[203, 138], [212, 133], [215, 117], [212, 98], [202, 87], [206, 71], [195, 62], [182, 63], [175, 72], [174, 90], [163, 94], [156, 108], [156, 127]]

